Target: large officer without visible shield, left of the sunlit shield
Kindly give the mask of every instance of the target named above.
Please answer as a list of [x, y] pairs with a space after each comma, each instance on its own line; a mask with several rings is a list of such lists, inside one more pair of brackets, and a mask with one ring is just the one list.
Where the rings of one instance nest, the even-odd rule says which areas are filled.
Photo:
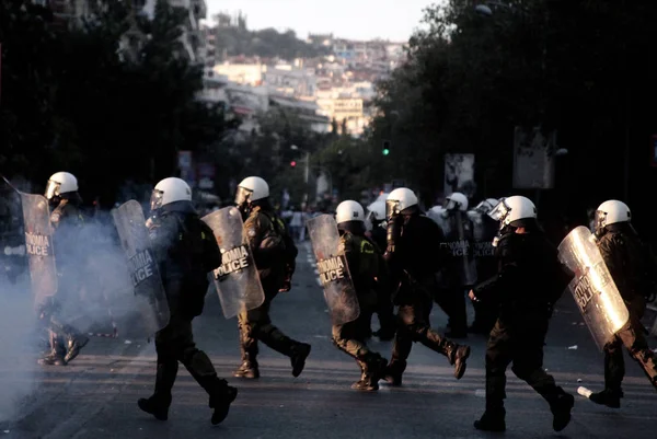
[[543, 369], [543, 345], [552, 307], [572, 274], [565, 273], [556, 249], [539, 228], [531, 200], [520, 196], [505, 198], [489, 215], [500, 224], [499, 269], [496, 277], [474, 287], [470, 299], [498, 303], [499, 316], [486, 348], [486, 411], [474, 427], [487, 431], [506, 429], [506, 369], [512, 362], [514, 373], [548, 401], [552, 426], [561, 431], [570, 421], [575, 400]]

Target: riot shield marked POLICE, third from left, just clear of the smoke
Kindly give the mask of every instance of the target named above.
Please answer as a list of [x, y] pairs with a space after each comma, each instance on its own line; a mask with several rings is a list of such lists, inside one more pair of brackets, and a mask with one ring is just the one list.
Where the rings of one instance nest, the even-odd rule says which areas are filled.
[[244, 235], [242, 215], [234, 207], [224, 207], [203, 220], [215, 232], [221, 250], [221, 266], [215, 269], [215, 286], [226, 319], [253, 310], [265, 301], [265, 293]]

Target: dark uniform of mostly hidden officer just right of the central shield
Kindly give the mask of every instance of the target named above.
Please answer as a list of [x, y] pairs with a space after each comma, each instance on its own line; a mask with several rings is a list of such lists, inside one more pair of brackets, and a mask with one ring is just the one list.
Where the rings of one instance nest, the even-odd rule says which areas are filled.
[[[376, 244], [377, 251], [380, 252], [381, 256], [388, 246], [385, 233], [385, 229], [381, 227], [381, 221], [377, 221], [370, 232], [371, 240]], [[390, 340], [394, 337], [396, 323], [394, 317], [394, 305], [392, 304], [392, 298], [390, 297], [390, 282], [384, 264], [381, 264], [381, 269], [374, 285], [374, 291], [377, 292], [377, 305], [374, 312], [379, 317], [380, 326], [374, 335], [382, 340]], [[371, 319], [369, 327], [371, 332]]]

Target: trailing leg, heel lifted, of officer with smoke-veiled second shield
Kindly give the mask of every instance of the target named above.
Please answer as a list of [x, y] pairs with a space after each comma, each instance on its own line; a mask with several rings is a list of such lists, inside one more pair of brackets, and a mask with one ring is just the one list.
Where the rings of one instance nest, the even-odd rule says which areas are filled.
[[176, 342], [177, 359], [210, 397], [209, 406], [215, 409], [212, 424], [221, 423], [228, 415], [230, 404], [238, 396], [238, 390], [219, 379], [206, 353], [196, 347], [191, 320], [177, 324]]

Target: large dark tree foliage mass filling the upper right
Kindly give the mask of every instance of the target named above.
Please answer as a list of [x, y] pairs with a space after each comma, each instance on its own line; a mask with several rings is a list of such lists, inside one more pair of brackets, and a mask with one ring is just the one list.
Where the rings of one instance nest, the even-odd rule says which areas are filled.
[[[648, 105], [657, 97], [649, 31], [657, 3], [507, 4], [491, 4], [491, 15], [466, 0], [426, 11], [426, 30], [410, 41], [405, 65], [379, 84], [369, 135], [373, 167], [384, 181], [403, 175], [433, 201], [442, 189], [442, 155], [472, 152], [479, 195], [508, 195], [514, 127], [540, 126], [556, 129], [558, 147], [569, 151], [557, 163], [557, 189], [545, 196], [584, 210], [623, 198], [629, 178], [629, 201], [641, 203], [641, 188], [655, 184], [646, 158], [657, 130]], [[391, 154], [382, 157], [385, 139]]]

